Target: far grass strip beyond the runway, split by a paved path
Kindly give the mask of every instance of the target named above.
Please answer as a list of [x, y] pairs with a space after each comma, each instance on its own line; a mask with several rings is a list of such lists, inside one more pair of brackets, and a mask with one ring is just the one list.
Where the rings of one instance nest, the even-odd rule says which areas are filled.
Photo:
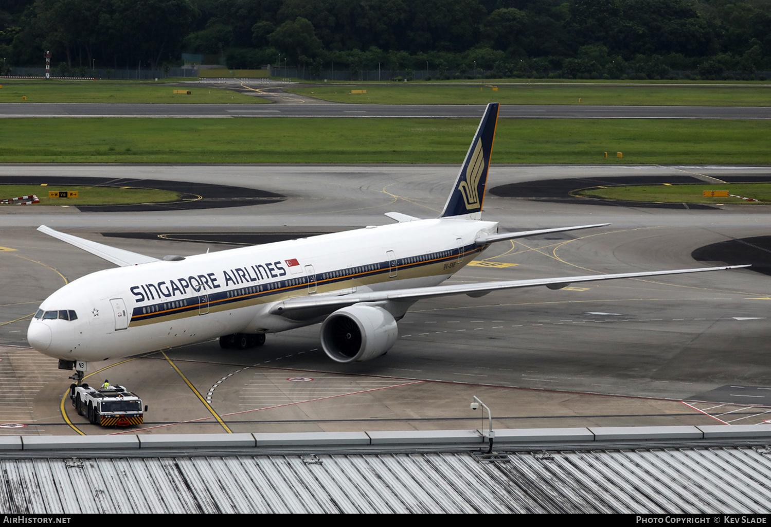
[[[189, 79], [187, 79], [189, 80]], [[259, 97], [217, 88], [192, 86], [190, 95], [173, 93], [180, 86], [153, 81], [65, 81], [45, 79], [0, 79], [0, 102], [183, 102], [260, 104]], [[612, 105], [612, 106], [769, 106], [771, 83], [690, 84], [675, 86], [672, 82], [597, 82], [591, 85], [564, 81], [511, 84], [512, 79], [474, 81], [468, 84], [442, 82], [370, 82], [362, 84], [330, 84], [297, 87], [287, 91], [334, 102], [365, 104], [548, 104], [548, 105]], [[523, 82], [521, 80], [517, 82]], [[493, 91], [493, 86], [497, 91]], [[365, 94], [351, 94], [352, 89], [366, 89]], [[22, 97], [26, 97], [23, 100]], [[579, 102], [579, 99], [580, 102]]]

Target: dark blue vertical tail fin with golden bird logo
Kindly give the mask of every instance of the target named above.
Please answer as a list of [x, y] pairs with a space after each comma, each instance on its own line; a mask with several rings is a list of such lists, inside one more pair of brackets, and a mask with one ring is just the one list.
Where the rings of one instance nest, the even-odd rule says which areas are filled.
[[499, 103], [490, 102], [482, 117], [479, 128], [460, 167], [453, 191], [447, 198], [440, 218], [466, 216], [473, 220], [482, 217], [484, 190], [487, 186], [487, 171], [490, 155], [493, 153], [495, 126], [498, 122]]

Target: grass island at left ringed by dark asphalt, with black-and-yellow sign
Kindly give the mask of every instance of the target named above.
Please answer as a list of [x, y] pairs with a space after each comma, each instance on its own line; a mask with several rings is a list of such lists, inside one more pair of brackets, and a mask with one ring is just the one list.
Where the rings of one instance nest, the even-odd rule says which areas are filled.
[[[78, 197], [49, 198], [49, 192], [62, 190], [77, 191]], [[162, 203], [180, 199], [179, 193], [170, 190], [118, 188], [114, 186], [0, 185], [0, 200], [31, 194], [40, 198], [41, 205], [126, 205], [129, 203]]]

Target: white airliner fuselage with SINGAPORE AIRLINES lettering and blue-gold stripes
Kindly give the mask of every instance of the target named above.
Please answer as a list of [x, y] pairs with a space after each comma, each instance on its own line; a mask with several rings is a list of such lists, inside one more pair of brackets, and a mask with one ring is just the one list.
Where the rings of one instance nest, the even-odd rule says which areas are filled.
[[102, 361], [227, 334], [285, 331], [323, 317], [271, 314], [277, 302], [434, 286], [485, 248], [474, 240], [495, 232], [494, 222], [416, 220], [102, 270], [45, 299], [28, 340], [51, 357]]

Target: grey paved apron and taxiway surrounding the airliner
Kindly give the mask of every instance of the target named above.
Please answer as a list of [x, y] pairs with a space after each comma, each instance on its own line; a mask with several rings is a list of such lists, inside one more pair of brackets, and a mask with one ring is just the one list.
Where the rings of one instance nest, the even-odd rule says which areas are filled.
[[[766, 167], [493, 166], [490, 186], [610, 176], [764, 176]], [[204, 210], [81, 213], [68, 207], [0, 209], [2, 401], [23, 386], [0, 421], [28, 433], [75, 433], [59, 401], [69, 385], [56, 361], [25, 349], [39, 302], [64, 279], [108, 263], [35, 231], [57, 230], [163, 257], [227, 248], [218, 233], [332, 232], [389, 223], [382, 213], [434, 217], [455, 166], [0, 166], [0, 176], [146, 178], [210, 183], [277, 193], [286, 200]], [[501, 230], [612, 222], [610, 227], [499, 243], [453, 281], [510, 280], [705, 267], [692, 251], [768, 234], [767, 206], [709, 210], [596, 206], [487, 194], [486, 220]], [[103, 237], [155, 233], [164, 239]], [[187, 236], [195, 234], [193, 237]], [[174, 240], [170, 239], [173, 238]], [[202, 243], [200, 240], [204, 240]], [[567, 287], [448, 297], [415, 304], [383, 357], [335, 364], [318, 344], [318, 326], [268, 335], [264, 347], [222, 351], [214, 342], [136, 358], [96, 375], [126, 384], [150, 404], [158, 433], [222, 431], [171, 368], [180, 368], [232, 431], [469, 428], [480, 415], [495, 426], [752, 424], [771, 401], [766, 361], [771, 287], [766, 275], [733, 270]], [[17, 320], [18, 319], [18, 320]], [[105, 364], [108, 366], [109, 364]], [[311, 379], [311, 380], [308, 380]], [[22, 400], [23, 399], [23, 400]], [[694, 400], [706, 401], [705, 403]], [[15, 400], [15, 399], [14, 399]], [[680, 401], [688, 401], [683, 404]], [[749, 406], [742, 406], [749, 404]], [[766, 405], [769, 408], [764, 408]], [[69, 411], [65, 408], [65, 411]], [[26, 413], [25, 413], [26, 412]], [[76, 421], [77, 416], [70, 419]], [[24, 417], [24, 416], [28, 417]], [[362, 428], [363, 427], [363, 428]], [[111, 433], [83, 425], [88, 434]], [[12, 433], [18, 434], [17, 429]], [[2, 434], [2, 428], [0, 428]]]

